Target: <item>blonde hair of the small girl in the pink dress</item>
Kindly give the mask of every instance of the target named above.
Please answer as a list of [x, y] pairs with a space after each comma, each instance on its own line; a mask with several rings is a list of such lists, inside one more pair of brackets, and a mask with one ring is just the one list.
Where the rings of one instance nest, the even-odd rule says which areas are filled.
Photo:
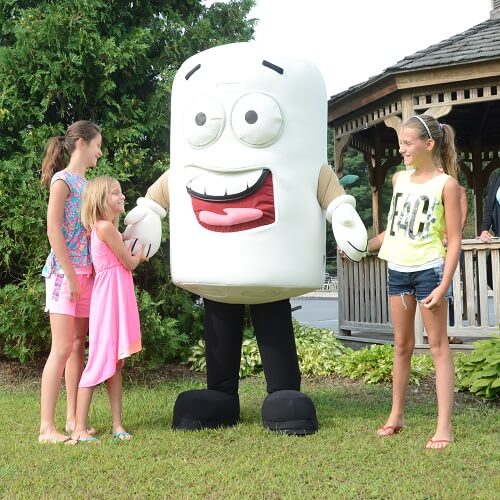
[[[108, 175], [95, 177], [87, 183], [83, 192], [81, 208], [82, 223], [85, 229], [94, 229], [97, 221], [106, 217], [109, 210], [107, 197], [114, 184], [119, 184], [119, 182]], [[118, 227], [119, 219], [119, 214], [113, 219], [113, 224], [116, 227]]]

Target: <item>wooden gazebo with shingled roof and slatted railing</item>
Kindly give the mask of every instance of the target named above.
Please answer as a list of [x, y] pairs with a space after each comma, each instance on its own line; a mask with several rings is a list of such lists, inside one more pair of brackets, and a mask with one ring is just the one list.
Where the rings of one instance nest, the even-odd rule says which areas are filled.
[[[401, 164], [398, 132], [415, 114], [431, 114], [456, 131], [460, 168], [474, 194], [476, 230], [483, 214], [483, 192], [500, 167], [500, 0], [490, 19], [427, 49], [405, 57], [381, 74], [334, 95], [328, 125], [334, 130], [335, 169], [343, 172], [348, 146], [368, 165], [373, 226], [382, 230], [381, 189], [388, 170]], [[500, 323], [500, 243], [463, 240], [464, 268], [455, 274], [456, 323], [450, 335], [484, 337]], [[493, 262], [493, 300], [488, 297], [486, 256]], [[375, 257], [339, 269], [339, 327], [390, 332], [385, 264]], [[462, 300], [463, 298], [463, 300]], [[417, 345], [424, 332], [416, 328]]]

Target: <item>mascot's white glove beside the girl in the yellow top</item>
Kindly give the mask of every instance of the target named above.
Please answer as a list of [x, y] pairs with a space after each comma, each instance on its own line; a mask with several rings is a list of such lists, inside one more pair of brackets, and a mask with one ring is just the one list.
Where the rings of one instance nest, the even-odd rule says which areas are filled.
[[353, 196], [344, 194], [335, 198], [326, 209], [326, 218], [332, 223], [333, 235], [339, 248], [354, 262], [368, 252], [368, 235]]

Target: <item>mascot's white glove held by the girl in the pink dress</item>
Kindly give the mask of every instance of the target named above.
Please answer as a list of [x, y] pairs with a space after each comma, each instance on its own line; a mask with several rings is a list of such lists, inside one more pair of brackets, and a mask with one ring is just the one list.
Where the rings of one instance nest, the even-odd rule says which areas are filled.
[[[161, 219], [167, 212], [158, 203], [148, 198], [139, 198], [137, 206], [125, 217], [127, 228], [123, 233], [125, 245], [132, 255], [144, 244], [144, 257], [152, 257], [160, 248]], [[135, 252], [134, 252], [135, 250]]]

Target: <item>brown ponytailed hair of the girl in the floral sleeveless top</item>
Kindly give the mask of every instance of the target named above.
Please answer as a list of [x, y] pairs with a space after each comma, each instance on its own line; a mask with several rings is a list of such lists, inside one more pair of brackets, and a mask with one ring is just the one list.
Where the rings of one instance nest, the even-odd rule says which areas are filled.
[[47, 149], [42, 161], [42, 184], [50, 188], [52, 176], [66, 168], [65, 153], [73, 154], [78, 139], [90, 142], [101, 129], [89, 120], [79, 120], [68, 127], [65, 135], [56, 135], [47, 141]]

